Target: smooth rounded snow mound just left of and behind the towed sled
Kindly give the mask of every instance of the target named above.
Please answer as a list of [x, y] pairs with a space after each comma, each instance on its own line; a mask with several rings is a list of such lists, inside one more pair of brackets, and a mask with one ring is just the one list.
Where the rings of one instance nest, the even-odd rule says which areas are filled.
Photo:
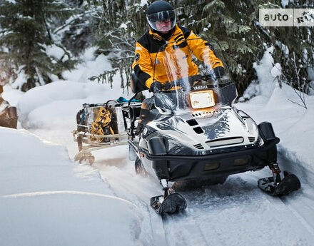
[[[56, 81], [27, 91], [18, 103], [24, 128], [76, 128], [76, 113], [83, 103], [106, 103], [122, 95], [121, 88], [108, 84]], [[117, 95], [117, 98], [113, 95]]]

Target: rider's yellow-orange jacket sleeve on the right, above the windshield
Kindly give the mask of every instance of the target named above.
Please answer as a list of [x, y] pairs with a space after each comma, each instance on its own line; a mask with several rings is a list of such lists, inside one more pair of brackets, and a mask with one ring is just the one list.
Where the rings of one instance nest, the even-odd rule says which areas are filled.
[[223, 62], [221, 59], [215, 56], [211, 50], [209, 43], [191, 31], [191, 34], [186, 39], [188, 43], [188, 48], [191, 49], [192, 53], [198, 60], [203, 61], [210, 68], [216, 68], [218, 66], [223, 67]]

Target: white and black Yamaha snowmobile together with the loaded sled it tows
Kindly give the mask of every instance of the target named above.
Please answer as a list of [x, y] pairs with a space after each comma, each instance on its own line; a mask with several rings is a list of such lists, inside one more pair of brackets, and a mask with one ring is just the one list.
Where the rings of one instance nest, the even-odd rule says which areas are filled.
[[[210, 43], [216, 56], [222, 58], [218, 43]], [[106, 105], [86, 105], [78, 113], [78, 130], [74, 133], [80, 150], [78, 160], [91, 156], [91, 148], [127, 142], [136, 173], [149, 173], [161, 184], [163, 195], [151, 198], [151, 207], [159, 214], [178, 212], [187, 206], [169, 182], [196, 180], [214, 185], [224, 183], [228, 175], [268, 166], [272, 175], [258, 180], [261, 190], [280, 196], [300, 188], [297, 176], [288, 172], [280, 175], [279, 138], [271, 123], [257, 125], [233, 105], [238, 96], [236, 83], [225, 63], [221, 76], [213, 69], [207, 69], [203, 76], [187, 76], [186, 54], [171, 43], [158, 51], [156, 61], [156, 69], [165, 66], [169, 83], [153, 98], [145, 99], [142, 106], [131, 100], [109, 101]], [[145, 88], [133, 75], [133, 98]], [[111, 113], [111, 123], [103, 121], [100, 108]], [[102, 131], [98, 131], [97, 122], [101, 122]], [[88, 146], [82, 147], [82, 143]]]

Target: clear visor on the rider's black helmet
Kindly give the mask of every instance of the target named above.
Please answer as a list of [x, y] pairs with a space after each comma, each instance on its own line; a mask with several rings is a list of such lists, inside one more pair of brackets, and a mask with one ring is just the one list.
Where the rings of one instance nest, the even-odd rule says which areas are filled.
[[174, 10], [161, 11], [147, 15], [149, 26], [156, 31], [170, 31], [176, 26], [176, 12]]

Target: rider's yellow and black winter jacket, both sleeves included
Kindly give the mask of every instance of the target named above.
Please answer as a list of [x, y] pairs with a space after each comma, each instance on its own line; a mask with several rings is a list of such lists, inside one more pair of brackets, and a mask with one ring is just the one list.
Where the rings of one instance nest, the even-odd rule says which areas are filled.
[[[188, 63], [188, 76], [198, 74], [198, 67], [192, 61], [192, 53], [198, 60], [208, 60], [211, 68], [218, 66], [223, 67], [223, 63], [215, 56], [209, 43], [193, 34], [193, 31], [186, 29], [182, 26], [175, 26], [173, 34], [167, 40], [168, 46], [173, 47], [174, 50], [180, 49], [185, 54], [184, 58]], [[160, 51], [166, 41], [158, 34], [149, 30], [144, 34], [141, 39], [136, 42], [136, 55], [132, 68], [136, 76], [141, 82], [145, 83], [147, 88], [150, 88], [154, 81], [166, 83], [168, 81], [165, 52]], [[158, 52], [159, 51], [159, 52]], [[206, 53], [204, 53], [206, 51]], [[207, 57], [207, 58], [206, 58]], [[155, 68], [154, 68], [154, 64]], [[155, 71], [155, 75], [153, 75]]]

